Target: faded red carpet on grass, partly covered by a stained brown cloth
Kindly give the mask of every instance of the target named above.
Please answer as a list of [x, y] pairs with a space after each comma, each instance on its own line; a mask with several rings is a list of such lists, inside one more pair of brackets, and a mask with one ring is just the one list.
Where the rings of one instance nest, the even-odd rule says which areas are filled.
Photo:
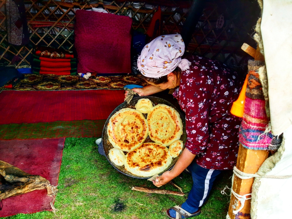
[[[27, 173], [46, 178], [51, 185], [57, 185], [64, 141], [65, 138], [0, 141], [0, 159]], [[52, 198], [47, 196], [47, 190], [35, 190], [10, 197], [2, 200], [0, 217], [50, 211], [51, 201]]]

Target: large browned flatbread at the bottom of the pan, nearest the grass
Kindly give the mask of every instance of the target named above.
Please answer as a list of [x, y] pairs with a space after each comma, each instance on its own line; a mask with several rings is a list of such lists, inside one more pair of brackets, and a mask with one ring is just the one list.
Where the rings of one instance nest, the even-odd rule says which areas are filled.
[[153, 176], [164, 171], [172, 161], [168, 148], [157, 143], [144, 143], [126, 155], [125, 169], [138, 176]]

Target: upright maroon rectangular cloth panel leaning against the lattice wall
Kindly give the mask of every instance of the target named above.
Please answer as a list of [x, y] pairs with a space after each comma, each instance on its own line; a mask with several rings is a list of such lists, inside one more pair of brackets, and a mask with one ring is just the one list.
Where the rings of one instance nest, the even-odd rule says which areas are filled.
[[128, 16], [77, 10], [77, 71], [131, 73], [131, 25]]

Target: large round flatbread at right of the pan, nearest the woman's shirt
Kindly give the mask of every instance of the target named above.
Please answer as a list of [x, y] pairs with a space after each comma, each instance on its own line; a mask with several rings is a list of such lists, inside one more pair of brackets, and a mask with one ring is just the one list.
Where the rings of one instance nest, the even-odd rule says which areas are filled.
[[147, 115], [149, 137], [152, 141], [164, 146], [180, 139], [183, 134], [183, 123], [179, 113], [170, 106], [158, 104]]

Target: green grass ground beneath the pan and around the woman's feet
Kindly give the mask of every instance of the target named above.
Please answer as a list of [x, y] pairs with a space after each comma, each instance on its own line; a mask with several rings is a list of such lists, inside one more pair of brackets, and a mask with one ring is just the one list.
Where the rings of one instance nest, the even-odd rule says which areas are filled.
[[[147, 180], [127, 177], [117, 172], [105, 157], [98, 154], [96, 138], [66, 138], [55, 207], [57, 215], [49, 211], [33, 214], [18, 214], [9, 219], [40, 218], [96, 218], [96, 219], [161, 219], [167, 218], [166, 209], [183, 203], [184, 197], [175, 195], [147, 194], [132, 191], [131, 187], [154, 188]], [[221, 190], [231, 185], [231, 171], [224, 171], [216, 179], [202, 213], [196, 218], [225, 218], [229, 196]], [[173, 182], [187, 194], [192, 187], [192, 178], [183, 174]], [[163, 189], [178, 191], [172, 185]]]

